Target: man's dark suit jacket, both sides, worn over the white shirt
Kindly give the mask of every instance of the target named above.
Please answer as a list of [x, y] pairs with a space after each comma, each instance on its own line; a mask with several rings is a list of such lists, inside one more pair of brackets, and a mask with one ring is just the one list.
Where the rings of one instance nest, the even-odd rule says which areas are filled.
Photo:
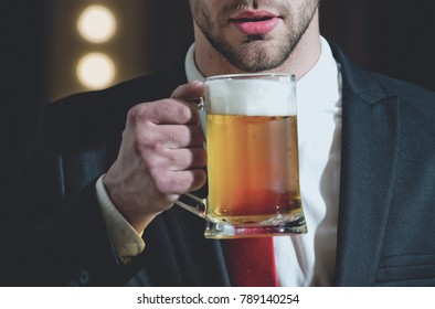
[[[435, 94], [341, 65], [342, 154], [336, 286], [435, 286]], [[47, 104], [10, 220], [8, 285], [227, 286], [219, 241], [173, 206], [128, 266], [107, 237], [95, 181], [117, 156], [128, 109], [185, 83], [183, 63]], [[9, 234], [10, 235], [10, 234]], [[6, 278], [6, 277], [4, 277]]]

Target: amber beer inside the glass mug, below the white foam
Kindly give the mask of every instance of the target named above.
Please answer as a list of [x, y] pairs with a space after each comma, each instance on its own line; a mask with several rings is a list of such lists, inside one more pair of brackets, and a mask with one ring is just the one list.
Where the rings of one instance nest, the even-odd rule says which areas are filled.
[[209, 214], [234, 224], [300, 212], [296, 116], [208, 115]]

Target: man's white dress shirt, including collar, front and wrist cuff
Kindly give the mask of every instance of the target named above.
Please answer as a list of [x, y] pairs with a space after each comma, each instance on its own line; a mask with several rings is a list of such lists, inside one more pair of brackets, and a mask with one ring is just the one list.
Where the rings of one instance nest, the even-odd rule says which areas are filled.
[[[194, 44], [185, 57], [188, 81], [204, 81], [194, 63]], [[291, 73], [291, 72], [289, 72]], [[297, 82], [299, 177], [308, 233], [274, 237], [280, 286], [330, 286], [335, 270], [341, 150], [341, 75], [327, 41], [315, 66]], [[145, 244], [112, 203], [103, 185], [97, 199], [109, 236], [126, 262]]]

